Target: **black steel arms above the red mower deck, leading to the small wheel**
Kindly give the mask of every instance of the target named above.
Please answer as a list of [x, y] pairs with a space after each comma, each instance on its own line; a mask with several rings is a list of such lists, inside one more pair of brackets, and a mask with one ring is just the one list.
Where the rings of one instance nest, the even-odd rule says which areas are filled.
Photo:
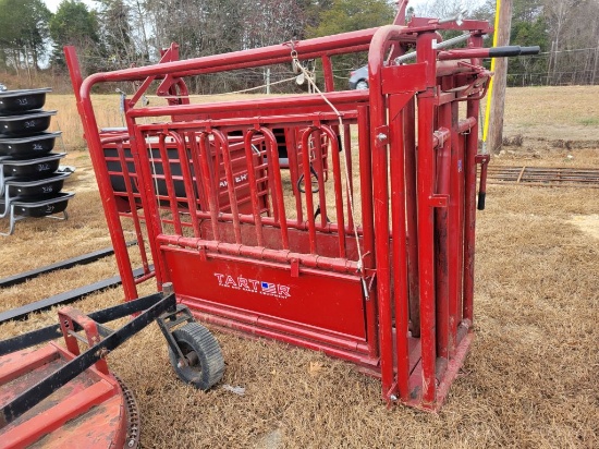
[[[73, 310], [71, 308], [71, 311]], [[188, 312], [185, 311], [185, 307], [176, 305], [176, 299], [175, 294], [172, 292], [172, 288], [170, 288], [169, 284], [164, 284], [164, 290], [162, 293], [154, 293], [148, 296], [144, 296], [113, 307], [94, 312], [89, 315], [85, 315], [85, 317], [89, 321], [95, 323], [98, 333], [102, 336], [103, 339], [101, 341], [98, 341], [96, 344], [90, 345], [87, 351], [78, 354], [60, 369], [50, 374], [39, 384], [34, 385], [28, 390], [14, 398], [10, 403], [5, 404], [0, 410], [0, 429], [16, 420], [23, 413], [34, 408], [36, 404], [49, 397], [52, 392], [63, 387], [66, 383], [74, 379], [85, 369], [94, 364], [97, 364], [98, 362], [101, 362], [109, 352], [111, 352], [112, 350], [124, 343], [126, 340], [129, 340], [131, 337], [143, 330], [155, 319], [158, 320], [160, 329], [164, 333], [167, 329], [161, 320], [173, 320], [173, 315], [180, 312], [183, 312], [185, 320], [193, 320], [192, 315], [190, 313], [185, 313]], [[138, 313], [138, 315], [135, 318], [133, 318], [131, 321], [129, 321], [118, 330], [111, 331], [105, 326], [101, 326], [102, 323], [112, 321], [114, 319], [136, 313]], [[38, 343], [53, 340], [62, 335], [64, 335], [69, 348], [69, 338], [74, 337], [73, 331], [83, 329], [83, 326], [77, 323], [77, 319], [81, 320], [81, 315], [78, 315], [81, 313], [74, 313], [70, 315], [68, 310], [61, 310], [60, 314], [62, 315], [62, 317], [70, 317], [70, 320], [72, 321], [72, 329], [69, 329], [66, 333], [63, 333], [61, 331], [60, 324], [34, 330], [32, 332], [1, 341], [0, 355], [16, 352]], [[174, 320], [176, 320], [178, 323], [181, 321], [181, 319]], [[85, 321], [85, 319], [83, 321]], [[85, 327], [85, 330], [87, 331], [87, 326]], [[172, 325], [167, 327], [168, 330], [170, 330]], [[166, 337], [169, 345], [171, 347], [171, 349], [174, 350], [175, 354], [179, 353], [182, 357], [179, 345], [168, 330], [166, 333], [169, 335], [166, 335]], [[90, 339], [88, 338], [88, 340]]]

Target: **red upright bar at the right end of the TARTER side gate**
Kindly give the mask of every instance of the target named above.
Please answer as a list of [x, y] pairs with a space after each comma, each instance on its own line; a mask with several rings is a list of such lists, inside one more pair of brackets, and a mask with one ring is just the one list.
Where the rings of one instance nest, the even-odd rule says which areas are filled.
[[[368, 117], [368, 107], [357, 107], [357, 130], [358, 130], [358, 150], [359, 150], [359, 192], [362, 207], [362, 242], [364, 246], [363, 266], [364, 269], [375, 267], [375, 233], [372, 213], [372, 161], [370, 159], [370, 119]], [[376, 357], [379, 355], [379, 339], [377, 331], [377, 301], [370, 296], [366, 301], [366, 338], [368, 340], [368, 355]]]

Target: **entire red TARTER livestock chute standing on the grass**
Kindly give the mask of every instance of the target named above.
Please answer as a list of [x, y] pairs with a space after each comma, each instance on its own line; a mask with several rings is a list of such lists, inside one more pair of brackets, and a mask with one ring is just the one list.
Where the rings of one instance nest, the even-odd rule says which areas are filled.
[[[468, 32], [467, 48], [440, 58], [440, 29]], [[473, 338], [478, 108], [490, 76], [478, 58], [489, 32], [418, 17], [186, 61], [172, 46], [159, 64], [85, 81], [66, 48], [125, 299], [155, 274], [207, 321], [354, 362], [380, 376], [388, 402], [438, 410]], [[411, 48], [416, 62], [395, 64]], [[184, 77], [291, 64], [292, 49], [321, 59], [327, 90], [331, 56], [368, 51], [369, 90], [190, 101]], [[123, 81], [142, 82], [125, 100], [126, 130], [102, 132], [91, 88]], [[138, 107], [155, 81], [168, 105]]]

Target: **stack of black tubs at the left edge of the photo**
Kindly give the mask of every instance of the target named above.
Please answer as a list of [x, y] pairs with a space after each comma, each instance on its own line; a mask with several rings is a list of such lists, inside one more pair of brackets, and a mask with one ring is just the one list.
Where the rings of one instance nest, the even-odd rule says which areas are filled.
[[[66, 219], [73, 193], [61, 192], [70, 173], [58, 172], [64, 153], [52, 153], [60, 132], [47, 132], [57, 111], [41, 110], [50, 88], [0, 92], [0, 218], [10, 235], [27, 217]], [[62, 214], [62, 217], [56, 216]]]

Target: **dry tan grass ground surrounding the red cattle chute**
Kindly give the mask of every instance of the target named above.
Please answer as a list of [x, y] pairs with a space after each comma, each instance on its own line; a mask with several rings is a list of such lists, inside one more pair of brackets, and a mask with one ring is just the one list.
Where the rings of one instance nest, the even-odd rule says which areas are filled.
[[[555, 98], [580, 92], [586, 104], [564, 113]], [[524, 138], [491, 163], [599, 167], [597, 97], [598, 87], [509, 89], [506, 136]], [[0, 278], [110, 246], [87, 153], [70, 150], [66, 163], [77, 168], [64, 187], [76, 192], [70, 219], [19, 222], [14, 235], [0, 241]], [[109, 356], [137, 398], [143, 447], [599, 447], [597, 194], [488, 186], [477, 228], [477, 337], [439, 414], [388, 410], [380, 383], [351, 364], [221, 332], [224, 378], [200, 392], [179, 381], [152, 325]], [[0, 311], [115, 274], [109, 257], [42, 276], [0, 290]], [[111, 289], [76, 305], [94, 311], [121, 299], [121, 290]], [[38, 314], [1, 325], [0, 337], [53, 323], [56, 312]]]

